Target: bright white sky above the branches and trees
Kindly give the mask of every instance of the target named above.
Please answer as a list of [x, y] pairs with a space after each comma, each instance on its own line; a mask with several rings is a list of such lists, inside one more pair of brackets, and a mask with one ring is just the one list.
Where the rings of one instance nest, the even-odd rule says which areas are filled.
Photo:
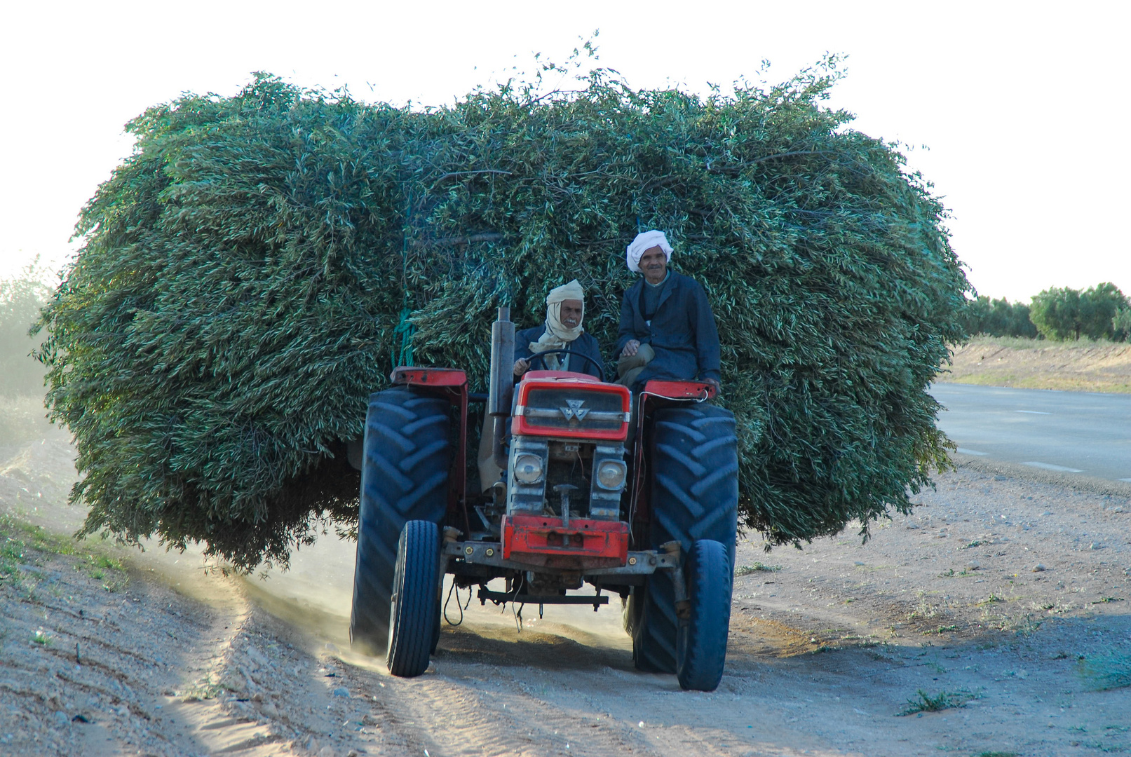
[[[129, 153], [122, 125], [265, 70], [363, 99], [441, 104], [601, 29], [634, 87], [786, 79], [848, 54], [832, 104], [909, 154], [953, 210], [981, 294], [1114, 281], [1131, 294], [1128, 3], [11, 2], [0, 26], [0, 277], [57, 268]], [[372, 84], [372, 89], [370, 88]]]

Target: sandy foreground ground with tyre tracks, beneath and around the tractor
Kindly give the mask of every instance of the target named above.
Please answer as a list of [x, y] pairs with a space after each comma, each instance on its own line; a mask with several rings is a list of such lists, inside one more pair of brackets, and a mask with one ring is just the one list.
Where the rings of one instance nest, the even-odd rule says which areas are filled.
[[[352, 546], [328, 538], [288, 574], [241, 578], [55, 538], [27, 524], [81, 519], [62, 504], [66, 438], [6, 441], [3, 755], [1131, 750], [1131, 689], [1103, 690], [1131, 680], [1121, 489], [972, 459], [866, 543], [766, 554], [750, 534], [726, 675], [689, 694], [632, 669], [615, 608], [528, 607], [519, 633], [512, 608], [475, 602], [428, 673], [392, 678], [348, 650]], [[914, 712], [923, 696], [955, 706]]]

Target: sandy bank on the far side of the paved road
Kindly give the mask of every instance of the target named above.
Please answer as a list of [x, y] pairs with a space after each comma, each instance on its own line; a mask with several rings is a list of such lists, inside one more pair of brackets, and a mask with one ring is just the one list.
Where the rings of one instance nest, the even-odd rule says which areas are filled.
[[939, 381], [1018, 389], [1131, 392], [1131, 343], [976, 337]]

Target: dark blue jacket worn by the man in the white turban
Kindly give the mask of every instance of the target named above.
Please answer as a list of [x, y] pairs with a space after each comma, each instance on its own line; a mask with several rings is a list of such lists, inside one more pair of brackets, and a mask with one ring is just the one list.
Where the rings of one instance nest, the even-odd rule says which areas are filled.
[[651, 345], [656, 350], [656, 357], [640, 372], [637, 385], [649, 378], [719, 380], [718, 330], [707, 293], [699, 282], [690, 276], [672, 271], [659, 295], [659, 305], [650, 327], [640, 313], [644, 287], [641, 276], [624, 293], [621, 328], [616, 336], [618, 356], [630, 339]]

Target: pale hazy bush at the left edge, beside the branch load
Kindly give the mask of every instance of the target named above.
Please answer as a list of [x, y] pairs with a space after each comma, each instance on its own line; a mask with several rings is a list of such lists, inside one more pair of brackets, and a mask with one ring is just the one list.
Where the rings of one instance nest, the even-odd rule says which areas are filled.
[[16, 278], [0, 279], [0, 394], [43, 393], [43, 366], [32, 358], [38, 340], [28, 336], [51, 295], [43, 278], [35, 262]]

